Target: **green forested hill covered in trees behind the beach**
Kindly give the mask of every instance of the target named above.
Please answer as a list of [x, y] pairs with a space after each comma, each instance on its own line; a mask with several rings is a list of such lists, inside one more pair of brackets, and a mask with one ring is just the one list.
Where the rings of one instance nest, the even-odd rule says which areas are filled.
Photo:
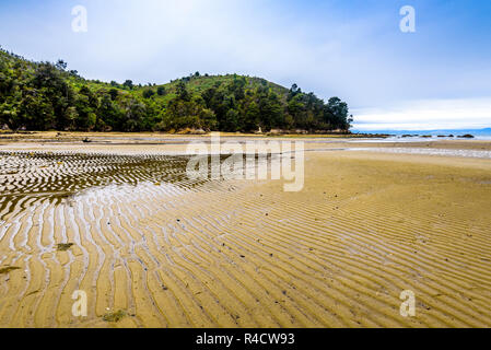
[[164, 85], [89, 81], [0, 50], [0, 127], [12, 130], [349, 130], [348, 106], [259, 78], [196, 72]]

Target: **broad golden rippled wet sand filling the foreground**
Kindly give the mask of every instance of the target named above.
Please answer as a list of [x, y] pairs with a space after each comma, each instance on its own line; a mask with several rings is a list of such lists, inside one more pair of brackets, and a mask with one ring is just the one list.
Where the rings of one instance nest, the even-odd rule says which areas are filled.
[[491, 326], [489, 160], [312, 151], [284, 192], [98, 148], [0, 153], [1, 327]]

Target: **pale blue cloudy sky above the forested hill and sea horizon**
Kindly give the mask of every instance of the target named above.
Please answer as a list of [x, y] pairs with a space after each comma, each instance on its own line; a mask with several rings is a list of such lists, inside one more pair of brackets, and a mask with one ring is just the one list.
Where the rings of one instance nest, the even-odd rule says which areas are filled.
[[[86, 33], [71, 28], [75, 5]], [[416, 10], [402, 33], [399, 10]], [[297, 83], [347, 101], [355, 127], [491, 126], [489, 0], [0, 1], [0, 45], [83, 77], [165, 83], [201, 73]]]

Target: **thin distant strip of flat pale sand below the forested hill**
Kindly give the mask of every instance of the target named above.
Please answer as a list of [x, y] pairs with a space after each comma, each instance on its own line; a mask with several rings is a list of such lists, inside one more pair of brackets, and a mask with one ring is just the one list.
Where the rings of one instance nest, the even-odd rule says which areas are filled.
[[[191, 142], [210, 143], [210, 136], [178, 136], [162, 133], [67, 133], [57, 138], [57, 132], [39, 132], [20, 138], [2, 138], [0, 136], [0, 149], [4, 151], [15, 150], [33, 150], [33, 151], [62, 151], [62, 150], [80, 150], [83, 152], [144, 152], [145, 149], [152, 153], [163, 152], [166, 154], [185, 154], [186, 148]], [[85, 142], [84, 142], [85, 140]], [[236, 142], [244, 144], [248, 141], [262, 142], [295, 142], [304, 143], [306, 151], [312, 150], [388, 150], [393, 152], [395, 149], [410, 150], [421, 153], [448, 153], [452, 150], [455, 155], [471, 153], [488, 154], [491, 151], [491, 140], [478, 139], [428, 139], [424, 141], [408, 140], [390, 140], [390, 139], [365, 139], [356, 138], [318, 138], [318, 137], [266, 137], [255, 135], [220, 133], [221, 142]], [[424, 151], [426, 150], [426, 151]], [[411, 153], [411, 152], [406, 152]], [[487, 155], [484, 158], [488, 158]]]

